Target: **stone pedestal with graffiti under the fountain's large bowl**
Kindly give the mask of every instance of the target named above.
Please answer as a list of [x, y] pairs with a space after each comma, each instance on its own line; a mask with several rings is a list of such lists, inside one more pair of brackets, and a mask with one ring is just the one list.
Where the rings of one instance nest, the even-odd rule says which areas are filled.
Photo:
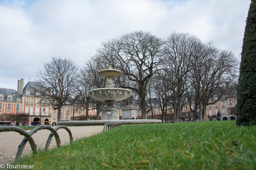
[[105, 101], [107, 107], [102, 110], [101, 120], [119, 120], [117, 109], [113, 106], [115, 101]]

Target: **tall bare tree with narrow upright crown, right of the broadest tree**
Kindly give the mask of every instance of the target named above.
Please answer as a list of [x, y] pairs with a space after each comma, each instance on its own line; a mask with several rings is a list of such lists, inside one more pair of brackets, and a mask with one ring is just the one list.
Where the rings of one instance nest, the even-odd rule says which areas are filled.
[[[172, 85], [173, 95], [178, 100], [179, 121], [181, 121], [185, 92], [191, 86], [189, 83], [192, 69], [190, 63], [200, 44], [201, 42], [198, 38], [188, 33], [173, 32], [166, 39], [165, 53], [169, 65], [169, 80]], [[173, 103], [175, 105], [175, 102]], [[176, 114], [174, 114], [174, 119], [176, 121]]]

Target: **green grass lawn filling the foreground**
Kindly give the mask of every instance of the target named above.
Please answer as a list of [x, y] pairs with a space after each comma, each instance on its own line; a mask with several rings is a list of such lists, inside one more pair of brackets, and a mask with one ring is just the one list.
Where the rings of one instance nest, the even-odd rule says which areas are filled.
[[35, 169], [256, 169], [256, 127], [235, 121], [124, 125], [19, 163]]

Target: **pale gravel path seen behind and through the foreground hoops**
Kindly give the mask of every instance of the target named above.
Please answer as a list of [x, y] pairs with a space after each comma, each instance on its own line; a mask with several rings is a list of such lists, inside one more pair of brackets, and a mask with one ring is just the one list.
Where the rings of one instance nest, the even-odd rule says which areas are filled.
[[[81, 137], [88, 137], [94, 134], [101, 133], [103, 130], [103, 125], [99, 126], [71, 126], [68, 127], [71, 132], [73, 139], [76, 140]], [[27, 130], [29, 132], [29, 130]], [[69, 143], [68, 132], [65, 129], [59, 129], [58, 134], [60, 136], [61, 145]], [[32, 135], [37, 149], [44, 149], [46, 140], [50, 134], [50, 130], [39, 130]], [[16, 157], [18, 146], [23, 140], [24, 136], [17, 132], [0, 132], [0, 164], [12, 163]], [[50, 149], [56, 147], [55, 138], [52, 137], [52, 142], [50, 144]], [[32, 153], [29, 143], [27, 142], [24, 151], [24, 155], [29, 155]]]

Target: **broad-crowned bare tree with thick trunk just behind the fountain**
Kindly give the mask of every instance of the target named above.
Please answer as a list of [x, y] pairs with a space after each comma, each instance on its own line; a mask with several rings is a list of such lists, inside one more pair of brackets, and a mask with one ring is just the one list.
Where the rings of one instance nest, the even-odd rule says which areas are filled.
[[117, 81], [121, 88], [129, 88], [138, 93], [142, 119], [147, 119], [146, 91], [149, 79], [160, 69], [163, 62], [164, 41], [149, 32], [135, 31], [117, 39], [102, 43], [97, 55], [113, 64], [134, 84], [124, 85]]

